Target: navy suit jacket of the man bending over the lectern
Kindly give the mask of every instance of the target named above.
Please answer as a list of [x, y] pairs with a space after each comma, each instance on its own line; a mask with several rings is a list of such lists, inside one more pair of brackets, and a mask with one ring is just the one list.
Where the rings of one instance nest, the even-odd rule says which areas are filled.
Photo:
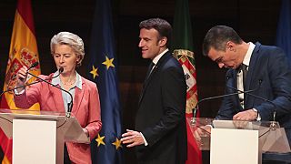
[[[236, 75], [234, 69], [227, 71], [226, 94], [236, 92], [229, 88], [236, 88]], [[246, 75], [245, 91], [250, 89], [256, 89], [251, 94], [271, 100], [273, 103], [245, 94], [246, 109], [256, 108], [262, 120], [273, 120], [276, 111], [276, 121], [286, 129], [290, 144], [291, 67], [282, 49], [256, 43]], [[226, 97], [216, 118], [231, 119], [242, 110], [244, 109], [239, 104], [238, 96]]]

